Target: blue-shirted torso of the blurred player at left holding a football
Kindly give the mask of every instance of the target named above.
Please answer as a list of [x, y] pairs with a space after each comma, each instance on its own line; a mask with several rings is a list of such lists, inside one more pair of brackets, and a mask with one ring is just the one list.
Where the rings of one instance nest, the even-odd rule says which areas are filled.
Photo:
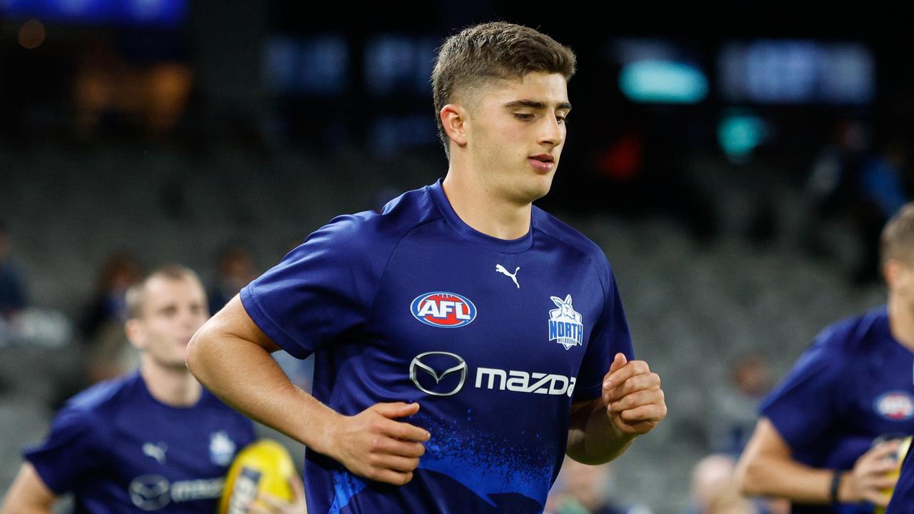
[[231, 460], [252, 439], [250, 422], [227, 407], [145, 407], [112, 412], [98, 473], [77, 503], [87, 512], [215, 511]]

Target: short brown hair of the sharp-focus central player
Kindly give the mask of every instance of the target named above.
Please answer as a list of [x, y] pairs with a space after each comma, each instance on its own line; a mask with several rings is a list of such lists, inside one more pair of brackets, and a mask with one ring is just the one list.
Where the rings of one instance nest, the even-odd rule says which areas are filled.
[[455, 98], [486, 81], [519, 80], [533, 71], [560, 73], [566, 81], [571, 80], [576, 63], [571, 48], [533, 28], [513, 23], [484, 23], [445, 39], [431, 72], [435, 123], [444, 154], [451, 159], [450, 138], [441, 123], [441, 109]]

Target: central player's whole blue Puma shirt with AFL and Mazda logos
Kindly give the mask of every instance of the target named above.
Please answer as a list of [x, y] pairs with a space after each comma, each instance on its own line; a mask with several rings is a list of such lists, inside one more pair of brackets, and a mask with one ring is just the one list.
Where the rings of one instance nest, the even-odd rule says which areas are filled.
[[456, 215], [441, 180], [380, 214], [331, 220], [241, 301], [286, 351], [314, 353], [319, 401], [345, 415], [419, 402], [399, 421], [431, 434], [403, 487], [308, 451], [314, 513], [542, 511], [571, 402], [600, 396], [616, 352], [633, 358], [596, 244], [537, 207], [524, 237], [485, 235]]

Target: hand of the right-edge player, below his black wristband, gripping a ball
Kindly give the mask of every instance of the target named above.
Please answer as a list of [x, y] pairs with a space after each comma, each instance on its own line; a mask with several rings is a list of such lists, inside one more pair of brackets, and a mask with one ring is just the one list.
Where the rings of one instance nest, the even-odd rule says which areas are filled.
[[894, 458], [898, 452], [900, 441], [887, 441], [879, 444], [864, 455], [860, 455], [850, 470], [841, 479], [838, 487], [838, 500], [843, 503], [859, 503], [869, 501], [879, 507], [886, 507], [891, 495], [886, 489], [891, 490], [898, 482], [898, 476], [889, 476], [889, 472], [898, 469], [898, 461]]

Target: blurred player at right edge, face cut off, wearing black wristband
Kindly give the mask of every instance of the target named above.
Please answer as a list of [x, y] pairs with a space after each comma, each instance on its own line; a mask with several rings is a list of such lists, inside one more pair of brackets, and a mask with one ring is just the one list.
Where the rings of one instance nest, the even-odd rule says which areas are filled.
[[886, 506], [893, 438], [914, 434], [914, 205], [888, 221], [881, 253], [887, 305], [825, 328], [762, 402], [739, 463], [745, 492], [795, 513]]

